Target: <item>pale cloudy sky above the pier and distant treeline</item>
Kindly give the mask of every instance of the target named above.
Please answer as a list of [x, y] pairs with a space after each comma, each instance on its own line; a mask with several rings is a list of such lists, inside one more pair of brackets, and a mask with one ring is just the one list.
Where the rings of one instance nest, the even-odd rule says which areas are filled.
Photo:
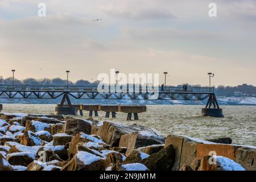
[[159, 73], [160, 83], [167, 71], [168, 85], [208, 85], [208, 72], [215, 86], [256, 85], [255, 32], [255, 0], [0, 0], [0, 76], [68, 69], [72, 81], [96, 81], [114, 68]]

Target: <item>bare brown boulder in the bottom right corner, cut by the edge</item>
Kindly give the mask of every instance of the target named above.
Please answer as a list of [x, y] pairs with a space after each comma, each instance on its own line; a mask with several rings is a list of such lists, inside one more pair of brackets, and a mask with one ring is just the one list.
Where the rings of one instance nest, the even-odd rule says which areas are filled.
[[256, 149], [241, 147], [236, 150], [235, 161], [246, 171], [256, 171]]

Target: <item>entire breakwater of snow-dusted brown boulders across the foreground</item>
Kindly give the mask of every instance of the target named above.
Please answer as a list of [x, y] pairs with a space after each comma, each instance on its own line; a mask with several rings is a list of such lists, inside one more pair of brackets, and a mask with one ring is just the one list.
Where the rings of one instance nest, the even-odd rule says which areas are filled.
[[255, 147], [231, 143], [92, 118], [0, 114], [0, 171], [256, 170]]

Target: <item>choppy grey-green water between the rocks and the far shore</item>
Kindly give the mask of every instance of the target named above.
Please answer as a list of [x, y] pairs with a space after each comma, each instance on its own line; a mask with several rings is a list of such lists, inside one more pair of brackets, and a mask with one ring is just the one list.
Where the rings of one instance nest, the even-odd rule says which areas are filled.
[[[4, 105], [5, 112], [51, 114], [55, 105]], [[187, 135], [200, 139], [231, 137], [233, 143], [256, 146], [256, 106], [223, 106], [225, 118], [201, 117], [201, 107], [188, 105], [148, 105], [139, 121], [126, 121], [125, 113], [105, 118], [100, 111], [96, 119], [125, 124], [137, 123], [159, 130], [164, 135]], [[88, 118], [89, 111], [84, 111]], [[80, 117], [80, 116], [79, 116]]]

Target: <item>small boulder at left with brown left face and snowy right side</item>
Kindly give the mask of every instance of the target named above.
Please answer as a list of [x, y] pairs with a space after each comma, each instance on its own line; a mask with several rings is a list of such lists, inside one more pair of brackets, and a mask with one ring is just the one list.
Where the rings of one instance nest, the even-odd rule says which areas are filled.
[[32, 131], [25, 131], [24, 134], [20, 136], [20, 144], [24, 146], [40, 146], [42, 140], [32, 133]]

